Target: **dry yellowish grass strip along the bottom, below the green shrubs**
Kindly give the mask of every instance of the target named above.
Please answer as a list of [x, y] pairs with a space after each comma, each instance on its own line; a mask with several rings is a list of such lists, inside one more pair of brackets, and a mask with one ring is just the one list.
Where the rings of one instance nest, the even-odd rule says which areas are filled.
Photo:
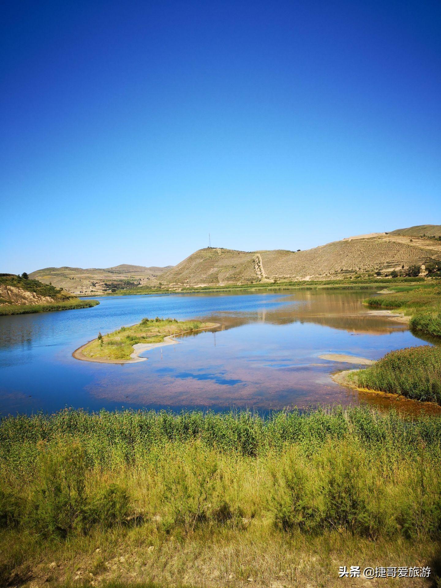
[[[132, 584], [141, 588], [153, 581], [158, 588], [337, 588], [343, 583], [348, 588], [423, 588], [428, 584], [422, 578], [406, 578], [405, 584], [403, 579], [381, 578], [371, 584], [363, 578], [342, 580], [338, 570], [345, 564], [362, 570], [397, 566], [397, 562], [424, 566], [439, 559], [435, 542], [397, 539], [373, 544], [338, 532], [316, 537], [280, 535], [265, 520], [253, 521], [240, 534], [228, 529], [209, 536], [196, 531], [185, 538], [158, 535], [155, 527], [118, 529], [106, 536], [83, 537], [75, 542], [75, 552], [72, 547], [48, 544], [43, 554], [28, 559], [32, 574], [20, 585], [92, 588], [109, 583], [109, 588], [116, 588], [112, 582], [119, 581], [118, 588]], [[16, 577], [21, 573], [26, 578], [26, 566], [16, 570]]]

